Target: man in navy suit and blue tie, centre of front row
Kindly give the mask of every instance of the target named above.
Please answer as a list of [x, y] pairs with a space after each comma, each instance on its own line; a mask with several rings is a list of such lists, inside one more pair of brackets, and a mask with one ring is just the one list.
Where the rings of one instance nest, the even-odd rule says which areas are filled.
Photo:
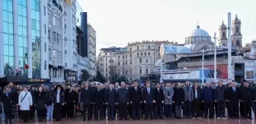
[[150, 82], [146, 82], [146, 88], [142, 92], [143, 101], [145, 104], [145, 117], [146, 119], [153, 119], [153, 103], [155, 103], [155, 91], [150, 87]]

